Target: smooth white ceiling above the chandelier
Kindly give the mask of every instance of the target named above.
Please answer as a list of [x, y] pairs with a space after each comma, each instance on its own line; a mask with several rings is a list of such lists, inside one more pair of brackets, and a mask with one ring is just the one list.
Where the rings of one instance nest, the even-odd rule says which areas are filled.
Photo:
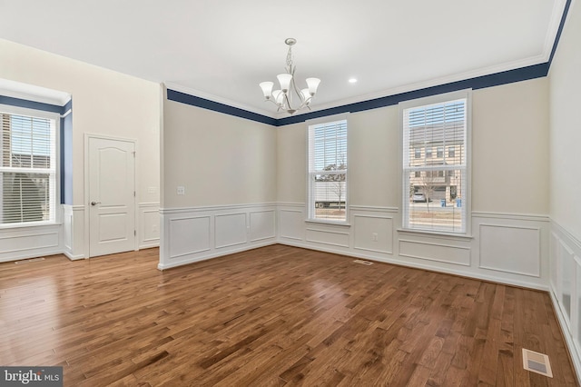
[[[0, 38], [279, 117], [261, 81], [319, 77], [313, 110], [548, 60], [565, 0], [0, 0]], [[359, 82], [350, 84], [350, 77]], [[304, 87], [304, 86], [302, 86]]]

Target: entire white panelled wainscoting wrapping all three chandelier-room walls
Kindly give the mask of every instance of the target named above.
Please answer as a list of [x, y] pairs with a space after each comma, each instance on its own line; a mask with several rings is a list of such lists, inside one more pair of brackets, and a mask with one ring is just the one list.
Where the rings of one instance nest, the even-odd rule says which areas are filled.
[[281, 243], [550, 290], [581, 376], [581, 242], [547, 216], [473, 212], [471, 235], [442, 235], [401, 230], [398, 208], [353, 205], [341, 225], [306, 221], [305, 210], [304, 203], [162, 210], [158, 267]]

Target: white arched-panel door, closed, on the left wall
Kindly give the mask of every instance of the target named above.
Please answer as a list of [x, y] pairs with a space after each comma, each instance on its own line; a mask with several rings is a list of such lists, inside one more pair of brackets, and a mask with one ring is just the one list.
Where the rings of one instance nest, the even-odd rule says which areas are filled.
[[135, 249], [135, 144], [89, 137], [89, 256]]

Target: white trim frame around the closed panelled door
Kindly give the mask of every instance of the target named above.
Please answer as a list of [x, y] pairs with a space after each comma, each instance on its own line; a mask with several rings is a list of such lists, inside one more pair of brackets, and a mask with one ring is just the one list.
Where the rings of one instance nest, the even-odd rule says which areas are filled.
[[[91, 234], [90, 234], [90, 197], [89, 197], [89, 139], [96, 138], [96, 139], [103, 139], [103, 140], [113, 140], [113, 141], [124, 141], [128, 143], [133, 143], [133, 149], [135, 153], [137, 153], [137, 140], [134, 138], [126, 138], [126, 137], [113, 137], [112, 135], [103, 135], [103, 134], [84, 134], [84, 258], [90, 258], [90, 245], [91, 245]], [[135, 196], [133, 196], [133, 217], [134, 217], [134, 224], [135, 224], [135, 231], [139, 233], [139, 224], [137, 223], [139, 220], [139, 211], [137, 206], [137, 170], [138, 170], [138, 163], [137, 157], [135, 157], [135, 169], [134, 169], [134, 184], [135, 184]], [[139, 234], [135, 235], [135, 243], [133, 246], [133, 251], [139, 250]]]

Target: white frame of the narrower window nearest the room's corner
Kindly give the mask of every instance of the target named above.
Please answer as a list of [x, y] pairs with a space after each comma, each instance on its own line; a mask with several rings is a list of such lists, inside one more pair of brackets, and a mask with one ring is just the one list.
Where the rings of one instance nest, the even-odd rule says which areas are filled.
[[[318, 171], [311, 171], [310, 154], [311, 147], [313, 143], [311, 142], [310, 131], [311, 128], [319, 126], [321, 124], [332, 124], [344, 121], [347, 124], [347, 170], [345, 171], [345, 220], [333, 220], [328, 218], [317, 218], [315, 217], [315, 197], [312, 195], [313, 192], [313, 179], [314, 174], [318, 174]], [[349, 188], [349, 114], [336, 114], [326, 117], [321, 117], [318, 119], [307, 120], [307, 203], [306, 203], [306, 221], [314, 223], [330, 223], [330, 224], [340, 224], [340, 225], [350, 225], [350, 210], [349, 210], [349, 198], [350, 198], [350, 188]]]

